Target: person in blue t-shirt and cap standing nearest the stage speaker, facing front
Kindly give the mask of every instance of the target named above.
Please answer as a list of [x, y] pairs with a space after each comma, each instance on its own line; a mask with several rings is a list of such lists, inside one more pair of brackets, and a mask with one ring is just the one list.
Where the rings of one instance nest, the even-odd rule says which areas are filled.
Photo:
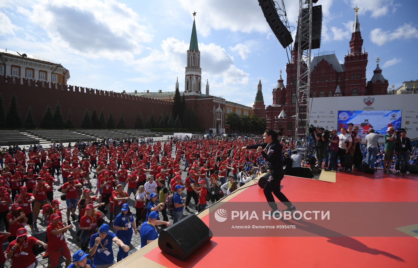
[[[115, 217], [113, 229], [116, 230], [117, 237], [122, 240], [125, 245], [130, 245], [134, 230], [135, 235], [138, 234], [128, 203], [122, 205], [121, 212]], [[125, 252], [123, 248], [119, 247], [119, 251], [117, 252], [117, 261], [120, 261], [127, 256], [128, 253]]]

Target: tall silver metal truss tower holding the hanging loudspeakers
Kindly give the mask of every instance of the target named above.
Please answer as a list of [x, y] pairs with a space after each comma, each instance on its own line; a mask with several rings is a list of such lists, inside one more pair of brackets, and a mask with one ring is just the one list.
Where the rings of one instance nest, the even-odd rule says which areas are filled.
[[[308, 157], [309, 90], [311, 85], [312, 0], [299, 0], [297, 32], [295, 148]], [[296, 45], [296, 44], [295, 44]]]

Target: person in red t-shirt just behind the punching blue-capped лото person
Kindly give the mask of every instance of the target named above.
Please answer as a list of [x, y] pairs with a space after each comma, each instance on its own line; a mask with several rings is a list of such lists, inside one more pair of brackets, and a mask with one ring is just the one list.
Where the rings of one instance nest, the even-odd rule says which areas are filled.
[[90, 242], [90, 236], [97, 232], [97, 221], [104, 217], [104, 215], [93, 208], [93, 204], [87, 204], [86, 212], [80, 219], [79, 228], [81, 232], [81, 249], [87, 252]]

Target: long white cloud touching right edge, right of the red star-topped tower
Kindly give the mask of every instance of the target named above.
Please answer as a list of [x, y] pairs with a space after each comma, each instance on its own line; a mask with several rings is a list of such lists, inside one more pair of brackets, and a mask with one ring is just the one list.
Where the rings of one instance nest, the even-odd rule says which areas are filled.
[[399, 26], [393, 32], [384, 31], [382, 28], [375, 28], [370, 32], [370, 39], [377, 46], [383, 46], [386, 42], [390, 42], [396, 39], [410, 39], [418, 38], [418, 30], [410, 23], [405, 23]]

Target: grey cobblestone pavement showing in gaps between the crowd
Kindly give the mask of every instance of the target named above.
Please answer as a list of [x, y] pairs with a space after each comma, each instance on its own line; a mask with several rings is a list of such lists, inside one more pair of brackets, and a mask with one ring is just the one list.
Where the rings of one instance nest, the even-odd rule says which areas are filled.
[[[175, 156], [175, 151], [176, 151], [176, 147], [173, 146], [173, 151], [172, 151], [172, 155], [173, 157]], [[81, 158], [81, 157], [80, 157]], [[184, 161], [181, 162], [181, 168], [182, 170], [184, 169]], [[96, 179], [93, 178], [94, 177], [94, 171], [95, 169], [92, 169], [93, 172], [90, 172], [90, 182], [92, 183], [92, 192], [94, 193], [96, 191]], [[58, 192], [58, 188], [60, 187], [60, 185], [62, 185], [62, 176], [61, 174], [58, 176], [58, 179], [60, 180], [60, 182], [56, 182], [54, 184], [54, 198], [60, 200], [60, 196], [61, 196], [61, 192]], [[182, 181], [184, 182], [186, 180], [186, 172], [182, 172]], [[184, 197], [186, 197], [186, 188], [184, 188], [183, 191], [183, 195]], [[125, 190], [127, 190], [127, 187], [125, 187]], [[211, 203], [211, 202], [208, 202]], [[94, 203], [97, 204], [97, 203]], [[131, 199], [128, 200], [128, 204], [131, 208], [131, 211], [133, 212], [133, 215], [135, 217], [135, 201], [134, 201], [134, 197], [133, 195], [131, 195]], [[65, 201], [62, 201], [61, 204], [59, 205], [60, 207], [66, 207]], [[107, 214], [104, 218], [105, 223], [109, 223], [109, 205], [107, 206]], [[190, 213], [196, 213], [197, 211], [195, 210], [195, 204], [194, 204], [194, 200], [192, 199], [190, 204], [189, 204], [189, 210], [190, 212], [187, 212], [186, 210], [184, 210], [183, 213], [183, 217], [186, 217], [187, 215], [189, 215]], [[66, 221], [66, 210], [62, 210], [62, 215], [63, 215], [63, 221]], [[78, 215], [78, 210], [76, 211], [76, 215]], [[161, 214], [160, 214], [161, 215]], [[168, 215], [168, 220], [173, 223], [173, 217], [170, 216], [170, 213], [167, 211], [167, 215]], [[35, 237], [39, 240], [42, 240], [45, 242], [45, 237], [46, 237], [46, 220], [44, 220], [43, 218], [41, 218], [42, 214], [39, 214], [38, 220], [37, 220], [37, 225], [38, 225], [38, 230], [39, 232], [35, 235]], [[77, 216], [78, 217], [78, 216]], [[70, 249], [71, 252], [71, 256], [72, 254], [76, 251], [79, 250], [81, 248], [81, 245], [79, 243], [76, 243], [76, 233], [78, 228], [78, 222], [77, 221], [72, 221], [74, 227], [73, 229], [70, 229], [69, 232], [65, 233], [65, 239], [67, 241], [68, 247]], [[28, 235], [30, 235], [31, 231], [29, 226], [26, 226], [26, 229], [28, 230]], [[2, 224], [2, 226], [0, 226], [0, 230], [4, 230], [4, 225]], [[112, 230], [113, 232], [115, 232], [116, 230], [112, 229], [112, 225], [110, 225], [110, 230]], [[161, 232], [161, 227], [157, 228], [158, 233]], [[5, 241], [5, 243], [3, 243], [3, 252], [7, 249], [8, 247], [8, 243], [7, 241]], [[130, 245], [130, 251], [129, 251], [129, 255], [134, 253], [135, 251], [137, 251], [138, 249], [140, 249], [141, 247], [141, 239], [140, 239], [140, 235], [139, 232], [137, 235], [135, 235], [135, 233], [133, 234], [132, 237], [132, 242]], [[116, 255], [117, 255], [117, 251], [119, 250], [119, 247], [113, 243], [113, 255], [115, 258], [115, 263], [116, 263]], [[88, 257], [89, 258], [89, 257]], [[48, 258], [46, 259], [42, 259], [41, 254], [37, 256], [37, 260], [38, 260], [38, 265], [36, 267], [46, 267], [48, 265]], [[61, 265], [58, 265], [56, 267], [64, 267], [65, 266], [65, 259], [61, 257], [60, 260]], [[5, 262], [5, 267], [11, 267], [11, 263], [9, 262], [9, 260], [6, 260]]]

